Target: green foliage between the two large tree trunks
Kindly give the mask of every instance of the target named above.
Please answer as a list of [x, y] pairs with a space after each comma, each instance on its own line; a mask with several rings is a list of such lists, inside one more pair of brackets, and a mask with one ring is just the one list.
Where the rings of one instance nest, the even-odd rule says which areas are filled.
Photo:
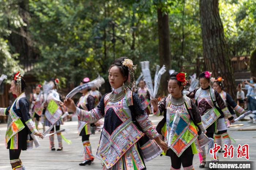
[[199, 1], [180, 1], [170, 11], [172, 68], [180, 71], [182, 65], [195, 63], [197, 56], [202, 57]]

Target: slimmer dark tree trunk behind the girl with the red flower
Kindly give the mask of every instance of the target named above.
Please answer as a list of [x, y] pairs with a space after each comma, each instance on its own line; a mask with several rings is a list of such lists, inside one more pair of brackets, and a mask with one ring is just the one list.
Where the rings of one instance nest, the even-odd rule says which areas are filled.
[[166, 72], [162, 75], [158, 94], [166, 95], [168, 94], [167, 80], [169, 79], [169, 69], [171, 69], [169, 18], [168, 14], [163, 13], [161, 8], [157, 10], [157, 17], [160, 66], [166, 66]]

